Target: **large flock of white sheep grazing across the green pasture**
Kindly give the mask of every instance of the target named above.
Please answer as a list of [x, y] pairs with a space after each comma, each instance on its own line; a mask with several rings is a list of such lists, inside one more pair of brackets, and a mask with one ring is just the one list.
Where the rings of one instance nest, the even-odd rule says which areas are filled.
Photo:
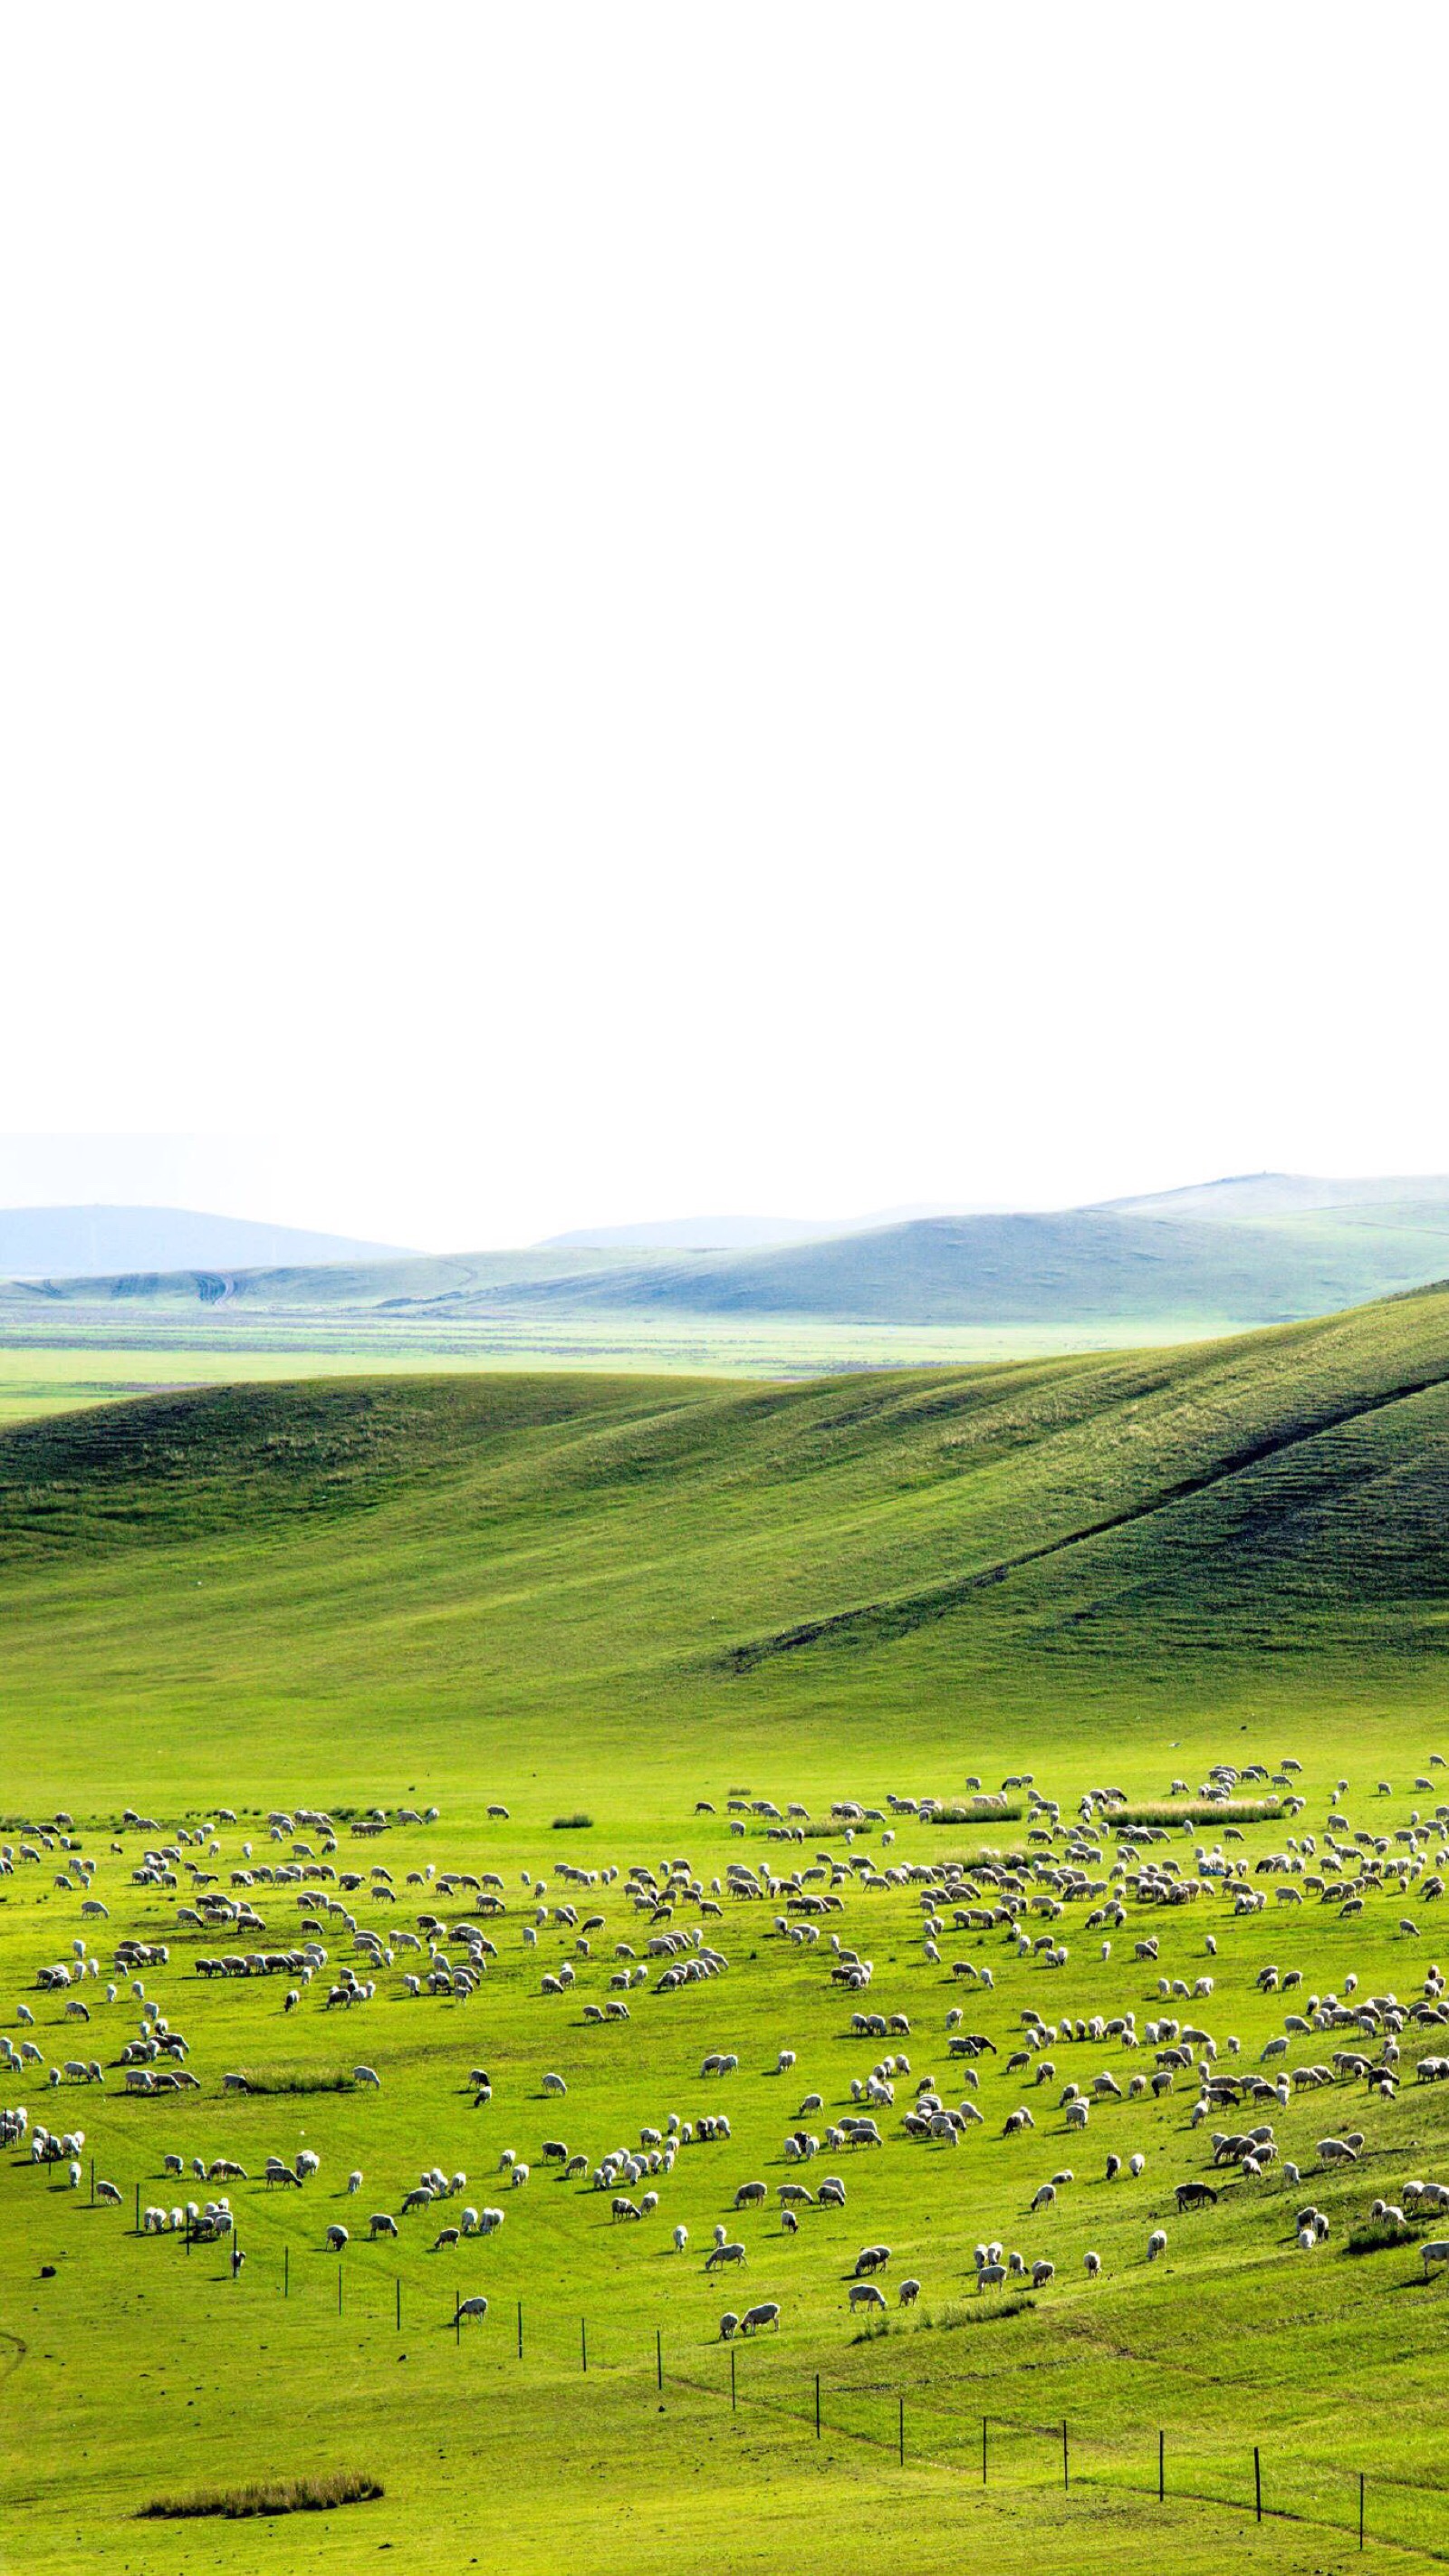
[[[1416, 1795], [1434, 1798], [1444, 1785], [1434, 1780], [1436, 1770], [1444, 1770], [1444, 1757], [1431, 1754], [1416, 1777]], [[973, 1780], [970, 1793], [981, 1793], [981, 1783]], [[811, 2213], [818, 2221], [847, 2208], [854, 2192], [849, 2164], [872, 2169], [862, 2197], [880, 2208], [888, 2197], [888, 2179], [875, 2179], [880, 2154], [957, 2151], [973, 2130], [988, 2130], [1022, 2141], [1024, 2161], [1040, 2110], [1042, 2125], [1050, 2112], [1058, 2115], [1060, 2136], [1081, 2161], [1091, 2154], [1094, 2125], [1130, 2117], [1132, 2102], [1171, 2094], [1184, 2112], [1184, 2161], [1192, 2154], [1202, 2166], [1202, 2174], [1176, 2182], [1176, 2213], [1210, 2213], [1225, 2187], [1274, 2184], [1295, 2195], [1292, 2241], [1313, 2254], [1331, 2236], [1331, 2223], [1307, 2195], [1310, 2172], [1356, 2166], [1369, 2133], [1351, 2120], [1325, 2120], [1313, 2159], [1300, 2148], [1300, 2161], [1292, 2161], [1277, 2138], [1289, 2105], [1320, 2089], [1351, 2094], [1372, 2123], [1403, 2076], [1413, 2074], [1423, 2087], [1449, 2076], [1446, 1981], [1439, 1965], [1408, 1947], [1426, 1929], [1426, 1909], [1444, 1896], [1449, 1803], [1416, 1806], [1405, 1824], [1385, 1832], [1361, 1821], [1354, 1826], [1343, 1814], [1346, 1795], [1349, 1785], [1338, 1780], [1325, 1795], [1325, 1821], [1305, 1824], [1310, 1801], [1297, 1762], [1282, 1762], [1271, 1775], [1261, 1765], [1217, 1765], [1197, 1790], [1174, 1780], [1158, 1821], [1132, 1821], [1120, 1790], [1094, 1788], [1063, 1808], [1024, 1772], [1009, 1777], [996, 1798], [1001, 1821], [991, 1847], [898, 1860], [901, 1829], [929, 1829], [937, 1801], [891, 1798], [880, 1808], [836, 1801], [824, 1821], [813, 1821], [798, 1803], [777, 1808], [736, 1793], [723, 1801], [723, 1834], [721, 1821], [697, 1826], [715, 1847], [713, 1868], [695, 1868], [687, 1855], [654, 1868], [553, 1860], [548, 1873], [515, 1870], [512, 1886], [504, 1870], [438, 1865], [432, 1857], [409, 1857], [394, 1870], [386, 1860], [363, 1857], [368, 1844], [389, 1850], [399, 1834], [409, 1837], [409, 1855], [422, 1852], [420, 1837], [440, 1842], [443, 1821], [432, 1808], [391, 1816], [373, 1808], [350, 1819], [322, 1808], [275, 1808], [245, 1826], [234, 1808], [214, 1808], [172, 1829], [129, 1808], [118, 1824], [90, 1837], [69, 1814], [57, 1814], [0, 1844], [0, 1873], [44, 1891], [46, 1927], [57, 1917], [64, 1922], [64, 1937], [49, 1932], [49, 1955], [33, 1955], [26, 1991], [0, 2012], [0, 2084], [15, 2089], [0, 2110], [0, 2146], [18, 2151], [10, 2166], [59, 2164], [80, 2190], [88, 2130], [62, 2117], [59, 2102], [85, 2094], [111, 2148], [118, 2138], [108, 2117], [113, 2092], [165, 2099], [170, 2120], [154, 2172], [178, 2190], [175, 2197], [147, 2200], [142, 2236], [232, 2239], [232, 2264], [239, 2267], [234, 2192], [185, 2197], [185, 2182], [304, 2192], [319, 2156], [288, 2146], [250, 2172], [237, 2156], [203, 2156], [175, 2141], [201, 2105], [211, 2117], [224, 2094], [250, 2092], [247, 2071], [216, 2063], [208, 2048], [208, 1991], [219, 1981], [229, 1991], [242, 1984], [247, 1994], [255, 1989], [257, 2038], [273, 2040], [278, 2027], [301, 2040], [329, 2027], [337, 2012], [368, 2014], [381, 2071], [355, 2063], [347, 2076], [365, 2092], [389, 2081], [389, 2038], [399, 2027], [389, 2022], [389, 2009], [425, 2009], [430, 2002], [471, 2007], [468, 2027], [458, 2025], [453, 2081], [461, 2081], [463, 2063], [479, 2056], [489, 1981], [512, 1978], [528, 1981], [538, 2002], [558, 2014], [558, 2040], [538, 2050], [533, 2084], [507, 2105], [494, 2105], [489, 2071], [468, 2063], [474, 2107], [494, 2105], [494, 2123], [481, 2136], [492, 2136], [486, 2164], [499, 2197], [522, 2192], [535, 2166], [558, 2172], [605, 2195], [613, 2226], [661, 2218], [672, 2249], [685, 2257], [690, 2228], [669, 2223], [667, 2202], [679, 2156], [697, 2148], [715, 2151], [728, 2215], [759, 2218], [775, 2200], [782, 2241], [798, 2236]], [[1377, 1783], [1372, 1795], [1392, 1790]], [[1271, 1847], [1256, 1857], [1248, 1857], [1243, 1824], [1215, 1829], [1217, 1808], [1225, 1819], [1248, 1814], [1251, 1821], [1243, 1806], [1251, 1798], [1264, 1806], [1259, 1821], [1271, 1826]], [[1174, 1806], [1184, 1811], [1181, 1824], [1171, 1821]], [[695, 1816], [715, 1819], [715, 1806], [700, 1801]], [[507, 1821], [507, 1811], [494, 1806], [489, 1819]], [[1017, 1834], [1014, 1824], [1022, 1826]], [[746, 1857], [736, 1847], [752, 1834], [754, 1852]], [[916, 1832], [911, 1842], [919, 1839]], [[872, 1955], [880, 1947], [872, 1911], [885, 1899], [919, 1914], [911, 1976], [898, 1955], [896, 1973]], [[1354, 1971], [1341, 1973], [1333, 1991], [1307, 1991], [1310, 1971], [1295, 1963], [1261, 1963], [1251, 1978], [1225, 1976], [1220, 1953], [1230, 1960], [1233, 1924], [1261, 1917], [1269, 1899], [1305, 1950], [1307, 1904], [1338, 1922], [1359, 1922], [1367, 1906], [1390, 1909], [1405, 1960], [1416, 1960], [1408, 1981], [1416, 1991], [1369, 1994]], [[1158, 1968], [1163, 1927], [1184, 1914], [1192, 1914], [1199, 1965], [1192, 1976], [1168, 1976]], [[39, 1906], [26, 1922], [39, 1942]], [[891, 1922], [898, 1927], [898, 1909]], [[731, 2007], [723, 1981], [741, 1973], [721, 1947], [734, 1937], [731, 1924], [757, 1945], [744, 1971], [752, 1978], [770, 1978], [780, 1960], [803, 1960], [813, 1973], [818, 1960], [821, 1999], [839, 1999], [839, 2035], [870, 2048], [870, 2063], [857, 2063], [844, 2089], [831, 2079], [836, 2094], [829, 2107], [824, 2087], [800, 2087], [790, 2125], [775, 2141], [775, 2184], [752, 2174], [734, 2179], [728, 2156], [718, 2154], [731, 2148], [731, 2115], [715, 2105], [731, 2097], [731, 2079], [741, 2071], [736, 2045], [700, 2058], [697, 2097], [708, 2097], [710, 2107], [649, 2105], [636, 2138], [595, 2154], [571, 2151], [556, 2136], [530, 2138], [525, 2151], [497, 2148], [497, 2112], [507, 2107], [510, 2120], [538, 2125], [530, 2097], [569, 2094], [569, 2079], [543, 2058], [564, 2056], [574, 2014], [579, 2027], [613, 2030], [613, 2045], [638, 2069], [641, 2089], [656, 2081], [649, 2074], [654, 2032], [667, 2030], [667, 2017], [679, 2009], [669, 1996], [718, 1984], [715, 2025], [726, 2038]], [[891, 1940], [903, 1937], [891, 1932]], [[1089, 1963], [1096, 2007], [1053, 2012], [1053, 1978], [1068, 1968], [1078, 1937], [1089, 1942], [1078, 1955], [1078, 1981]], [[1017, 1968], [1040, 1978], [1037, 2002], [1009, 2002], [1009, 1989], [1014, 1994], [1022, 1984]], [[1269, 2035], [1256, 2061], [1225, 2027], [1220, 1984], [1284, 2002], [1282, 2030]], [[1143, 1996], [1153, 1986], [1148, 2004]], [[183, 2027], [193, 2012], [196, 2040]], [[293, 2014], [304, 2020], [293, 2022]], [[643, 2030], [636, 2014], [646, 2017]], [[921, 2022], [929, 2025], [927, 2053], [937, 2066], [916, 2074], [901, 2043], [916, 2045]], [[1434, 2035], [1441, 2038], [1439, 2050], [1428, 2045]], [[798, 2066], [800, 2048], [788, 2045], [790, 2038], [785, 2030], [775, 2050], [772, 2074], [780, 2081]], [[1063, 2058], [1076, 2058], [1081, 2074], [1068, 2074]], [[21, 2099], [23, 2092], [33, 2099]], [[160, 2117], [160, 2110], [147, 2115]], [[1104, 2154], [1102, 2179], [1132, 2182], [1145, 2159], [1122, 2148], [1117, 2128], [1112, 2133], [1117, 2146]], [[134, 2143], [134, 2125], [126, 2136]], [[842, 2169], [806, 2179], [816, 2177], [816, 2159], [834, 2159]], [[347, 2197], [363, 2187], [365, 2172], [350, 2169]], [[1066, 2164], [1040, 2182], [1024, 2174], [1024, 2210], [1037, 2239], [1050, 2239], [1053, 2215], [1076, 2187], [1076, 2169]], [[407, 2190], [394, 2182], [391, 2195], [373, 2195], [391, 2197], [396, 2208], [371, 2208], [365, 2236], [396, 2239], [399, 2223], [440, 2221], [435, 2251], [484, 2244], [504, 2226], [504, 2208], [484, 2205], [481, 2195], [466, 2200], [466, 2172], [422, 2161]], [[124, 2208], [126, 2195], [103, 2174], [95, 2200]], [[1449, 2184], [1418, 2177], [1403, 2184], [1398, 2200], [1374, 2197], [1364, 2215], [1416, 2241], [1428, 2275], [1449, 2264], [1449, 2239], [1416, 2239], [1413, 2228], [1436, 2213], [1449, 2213]], [[322, 2228], [322, 2244], [335, 2254], [350, 2236], [340, 2218]], [[1143, 2262], [1153, 2264], [1166, 2251], [1168, 2231], [1145, 2231]], [[749, 2257], [749, 2239], [721, 2221], [703, 2269], [744, 2272]], [[880, 2277], [891, 2262], [891, 2246], [878, 2241], [847, 2262], [847, 2313], [885, 2311]], [[1084, 2254], [1084, 2272], [1086, 2280], [1102, 2277], [1099, 2251]], [[1022, 2251], [1006, 2244], [1006, 2233], [983, 2236], [968, 2277], [978, 2293], [1011, 2282], [1040, 2293], [1055, 2280], [1055, 2259], [1050, 2244]], [[903, 2277], [896, 2298], [903, 2308], [916, 2306], [921, 2280]], [[456, 2313], [484, 2318], [486, 2306], [484, 2293], [468, 2293]], [[780, 2313], [782, 2303], [767, 2298], [744, 2313], [726, 2311], [718, 2331], [731, 2339], [777, 2329]]]

